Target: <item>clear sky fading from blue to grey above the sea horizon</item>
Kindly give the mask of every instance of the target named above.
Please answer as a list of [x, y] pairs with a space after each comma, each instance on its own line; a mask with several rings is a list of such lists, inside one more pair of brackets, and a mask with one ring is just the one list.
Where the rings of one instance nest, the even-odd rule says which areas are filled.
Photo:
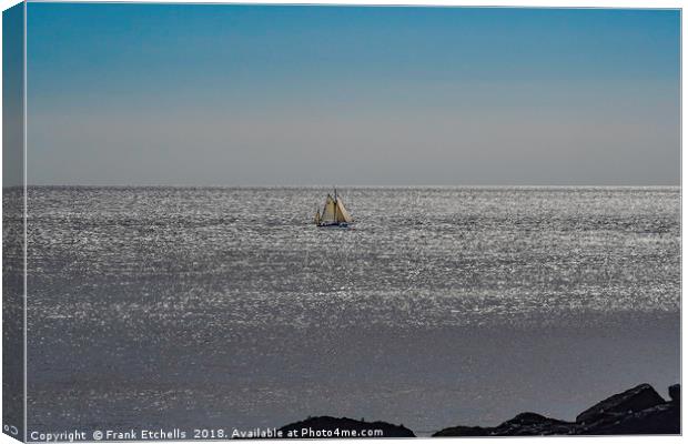
[[28, 182], [678, 185], [677, 10], [28, 4]]

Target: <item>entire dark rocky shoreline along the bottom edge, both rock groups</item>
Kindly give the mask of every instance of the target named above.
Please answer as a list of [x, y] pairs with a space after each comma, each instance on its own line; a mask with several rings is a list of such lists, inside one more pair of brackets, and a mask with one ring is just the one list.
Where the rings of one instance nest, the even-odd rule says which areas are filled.
[[[316, 416], [280, 428], [284, 437], [415, 437], [403, 424]], [[381, 431], [371, 433], [373, 431]], [[291, 432], [291, 433], [290, 433]], [[344, 433], [343, 433], [344, 432]], [[669, 401], [649, 384], [615, 394], [585, 410], [575, 422], [537, 413], [520, 413], [494, 427], [456, 425], [432, 436], [527, 435], [665, 435], [680, 434], [680, 385], [669, 387]]]

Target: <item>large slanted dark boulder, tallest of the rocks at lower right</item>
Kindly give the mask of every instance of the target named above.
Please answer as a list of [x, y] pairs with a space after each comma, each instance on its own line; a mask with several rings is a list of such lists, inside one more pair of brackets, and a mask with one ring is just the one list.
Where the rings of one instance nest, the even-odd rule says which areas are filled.
[[591, 423], [619, 413], [639, 412], [664, 404], [665, 400], [649, 384], [640, 384], [624, 393], [609, 396], [576, 416], [577, 423]]

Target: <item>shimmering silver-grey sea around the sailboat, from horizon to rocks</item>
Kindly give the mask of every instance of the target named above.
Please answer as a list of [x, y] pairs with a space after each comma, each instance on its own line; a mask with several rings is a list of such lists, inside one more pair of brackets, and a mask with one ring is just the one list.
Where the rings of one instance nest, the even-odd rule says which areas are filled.
[[30, 188], [29, 432], [417, 434], [679, 380], [678, 188]]

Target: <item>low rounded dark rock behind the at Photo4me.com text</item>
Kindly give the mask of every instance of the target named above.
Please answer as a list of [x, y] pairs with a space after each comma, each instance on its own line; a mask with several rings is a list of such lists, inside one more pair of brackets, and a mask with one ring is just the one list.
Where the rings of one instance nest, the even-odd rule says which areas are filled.
[[[415, 437], [403, 425], [381, 421], [373, 423], [348, 417], [316, 416], [308, 417], [280, 428], [283, 437], [294, 438], [343, 438], [343, 437]], [[373, 431], [381, 431], [380, 434]], [[373, 436], [371, 436], [373, 434]]]

